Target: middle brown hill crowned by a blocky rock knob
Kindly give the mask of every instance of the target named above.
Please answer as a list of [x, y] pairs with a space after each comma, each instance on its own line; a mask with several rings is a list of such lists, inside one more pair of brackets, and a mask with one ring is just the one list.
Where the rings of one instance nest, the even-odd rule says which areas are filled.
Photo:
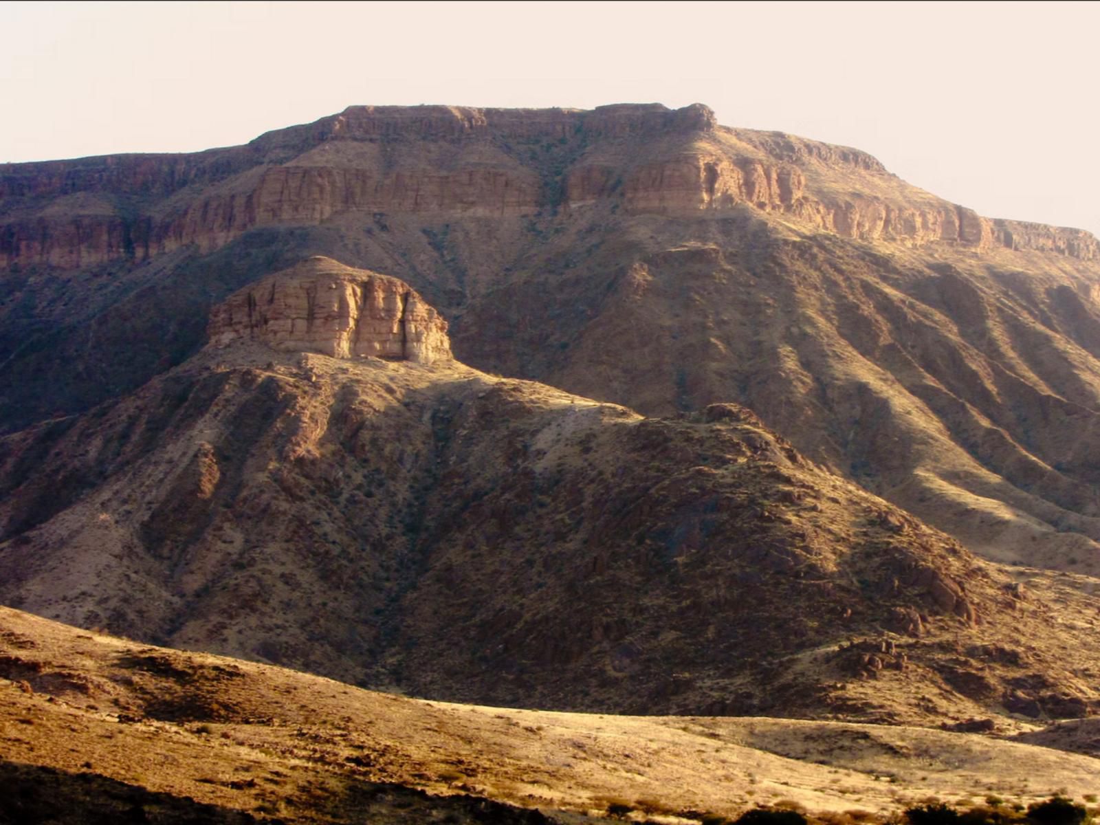
[[0, 440], [0, 602], [435, 698], [1096, 707], [1077, 579], [980, 562], [736, 405], [644, 418], [486, 375], [404, 284], [327, 258], [231, 297], [210, 338]]

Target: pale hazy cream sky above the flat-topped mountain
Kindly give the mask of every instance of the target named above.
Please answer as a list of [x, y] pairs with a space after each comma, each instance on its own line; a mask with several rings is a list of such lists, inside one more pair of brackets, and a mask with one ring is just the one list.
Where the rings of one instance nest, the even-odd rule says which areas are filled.
[[0, 163], [354, 103], [711, 106], [990, 217], [1100, 232], [1100, 3], [0, 3]]

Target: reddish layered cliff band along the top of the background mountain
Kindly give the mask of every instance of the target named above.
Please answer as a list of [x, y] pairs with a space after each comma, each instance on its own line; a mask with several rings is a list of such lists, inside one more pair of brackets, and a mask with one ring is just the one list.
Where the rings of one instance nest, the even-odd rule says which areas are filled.
[[[89, 209], [92, 195], [107, 197]], [[724, 129], [698, 105], [352, 107], [242, 147], [9, 164], [0, 198], [3, 266], [208, 252], [257, 227], [342, 215], [531, 217], [596, 202], [670, 215], [747, 206], [864, 241], [1098, 255], [1088, 233], [993, 222], [900, 185], [865, 153]]]

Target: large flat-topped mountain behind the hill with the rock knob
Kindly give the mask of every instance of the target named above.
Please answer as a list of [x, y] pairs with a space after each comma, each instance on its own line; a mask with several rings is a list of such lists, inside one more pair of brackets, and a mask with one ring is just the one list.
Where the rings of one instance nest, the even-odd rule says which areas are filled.
[[9, 432], [164, 375], [213, 305], [322, 254], [408, 283], [476, 369], [649, 416], [737, 403], [975, 552], [1097, 572], [1096, 239], [857, 150], [698, 105], [352, 107], [2, 166], [0, 226]]

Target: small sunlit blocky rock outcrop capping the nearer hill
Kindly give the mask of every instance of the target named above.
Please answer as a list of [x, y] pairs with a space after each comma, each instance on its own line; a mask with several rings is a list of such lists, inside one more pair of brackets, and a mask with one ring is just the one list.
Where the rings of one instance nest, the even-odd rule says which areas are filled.
[[210, 315], [215, 346], [430, 364], [451, 358], [447, 321], [405, 282], [315, 256], [231, 295]]

